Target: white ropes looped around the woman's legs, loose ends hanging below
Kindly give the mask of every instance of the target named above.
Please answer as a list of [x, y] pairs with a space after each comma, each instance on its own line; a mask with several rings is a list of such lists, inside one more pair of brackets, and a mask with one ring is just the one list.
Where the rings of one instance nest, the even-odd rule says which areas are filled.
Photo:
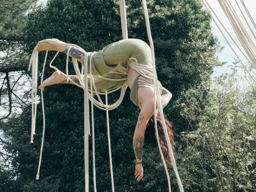
[[[83, 69], [83, 71], [80, 72], [78, 64], [77, 64], [77, 60], [72, 58], [73, 61], [73, 66], [74, 66], [74, 70], [75, 73], [77, 75], [77, 78], [79, 80], [79, 84], [75, 83], [70, 77], [68, 77], [68, 53], [71, 47], [77, 47], [80, 48], [77, 45], [74, 44], [68, 44], [68, 43], [64, 43], [62, 41], [59, 41], [57, 39], [45, 39], [42, 40], [43, 42], [53, 42], [53, 43], [57, 43], [59, 45], [67, 45], [68, 50], [67, 50], [67, 58], [66, 58], [66, 74], [63, 73], [62, 71], [60, 71], [58, 68], [56, 68], [55, 66], [51, 65], [53, 60], [55, 59], [55, 57], [58, 54], [58, 51], [55, 53], [55, 55], [53, 56], [53, 58], [51, 59], [49, 66], [57, 71], [59, 71], [61, 74], [63, 74], [66, 79], [72, 81], [72, 83], [74, 83], [75, 85], [83, 88], [84, 90], [84, 180], [85, 180], [85, 191], [88, 191], [88, 135], [90, 134], [90, 122], [89, 122], [89, 104], [88, 104], [88, 100], [91, 101], [91, 123], [92, 123], [92, 131], [93, 131], [93, 186], [94, 186], [94, 191], [96, 191], [96, 181], [95, 181], [95, 156], [94, 156], [94, 121], [93, 121], [93, 104], [95, 104], [95, 106], [97, 106], [98, 108], [104, 109], [104, 110], [112, 110], [114, 108], [116, 108], [122, 101], [125, 90], [127, 88], [127, 79], [122, 79], [125, 80], [124, 83], [122, 84], [121, 87], [115, 88], [114, 90], [110, 90], [108, 91], [108, 93], [113, 92], [119, 88], [121, 88], [121, 92], [120, 92], [120, 97], [119, 99], [111, 104], [108, 105], [108, 103], [106, 102], [106, 104], [104, 104], [102, 102], [102, 100], [99, 97], [99, 94], [106, 94], [105, 92], [98, 92], [95, 86], [95, 82], [93, 79], [93, 75], [91, 73], [91, 63], [92, 63], [92, 56], [95, 52], [85, 52], [85, 56], [84, 56], [84, 66], [82, 65], [81, 69]], [[42, 42], [41, 41], [41, 42]], [[32, 68], [32, 86], [31, 86], [31, 97], [32, 97], [32, 104], [31, 104], [31, 137], [30, 137], [30, 142], [33, 142], [33, 134], [34, 134], [34, 130], [35, 130], [35, 116], [36, 116], [36, 88], [37, 88], [37, 64], [38, 64], [38, 52], [35, 51], [37, 46], [35, 46], [30, 61], [29, 61], [29, 68]], [[44, 59], [44, 63], [43, 63], [43, 71], [44, 71], [44, 66], [45, 66], [45, 62], [46, 62], [46, 56], [47, 56], [47, 52], [45, 55], [45, 59]], [[88, 57], [90, 56], [89, 59], [89, 68], [90, 68], [90, 72], [88, 73]], [[126, 74], [127, 75], [127, 71], [125, 71], [126, 68], [124, 67], [116, 67], [117, 68], [117, 72], [120, 74]], [[119, 68], [119, 70], [118, 70]], [[84, 75], [84, 74], [88, 74], [88, 75]], [[88, 80], [87, 77], [90, 76], [90, 90], [88, 89]], [[42, 77], [41, 77], [41, 83], [42, 83], [42, 79], [43, 79], [43, 72], [42, 72]], [[108, 78], [108, 80], [110, 80], [110, 78]], [[116, 80], [116, 79], [112, 79], [112, 80]], [[94, 91], [93, 91], [94, 88]], [[90, 91], [90, 92], [89, 92]], [[96, 93], [98, 100], [96, 100], [95, 98], [93, 98], [93, 93]], [[43, 92], [41, 90], [41, 99], [42, 99], [42, 113], [43, 113], [43, 132], [42, 132], [42, 140], [41, 140], [41, 148], [40, 148], [40, 155], [39, 155], [39, 162], [38, 162], [38, 168], [37, 168], [37, 174], [36, 174], [36, 179], [39, 178], [39, 169], [40, 169], [40, 163], [41, 163], [41, 157], [42, 157], [42, 146], [43, 146], [43, 138], [44, 138], [44, 130], [45, 130], [45, 115], [44, 115], [44, 106], [43, 106]], [[108, 117], [107, 117], [108, 118]], [[109, 128], [109, 125], [108, 125]], [[109, 141], [110, 141], [110, 137], [109, 137]], [[109, 145], [110, 148], [110, 145]], [[109, 151], [109, 155], [110, 155], [110, 159], [111, 159], [111, 151]], [[111, 166], [111, 165], [110, 165]], [[111, 167], [111, 175], [112, 175], [112, 167]], [[112, 179], [112, 189], [113, 189], [113, 176], [111, 176]]]

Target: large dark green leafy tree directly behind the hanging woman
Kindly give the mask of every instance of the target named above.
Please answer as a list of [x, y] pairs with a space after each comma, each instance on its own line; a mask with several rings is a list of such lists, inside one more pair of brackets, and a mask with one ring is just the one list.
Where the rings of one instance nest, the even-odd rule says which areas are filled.
[[[179, 114], [180, 107], [172, 108], [173, 101], [180, 98], [182, 91], [207, 80], [213, 67], [221, 64], [214, 57], [218, 45], [210, 31], [210, 17], [201, 9], [199, 0], [147, 2], [158, 79], [173, 93], [172, 103], [166, 107], [165, 112], [168, 119], [173, 119], [176, 131], [179, 132], [184, 129], [186, 120]], [[129, 38], [147, 41], [140, 2], [127, 0], [126, 3]], [[58, 38], [75, 43], [86, 51], [99, 50], [108, 43], [121, 39], [118, 7], [118, 0], [49, 0], [46, 7], [29, 13], [25, 38], [27, 52], [31, 53], [37, 41], [45, 38]], [[39, 63], [42, 63], [44, 53], [39, 53], [39, 56]], [[49, 52], [49, 58], [52, 56], [53, 53]], [[59, 54], [53, 64], [65, 71], [64, 60], [64, 54]], [[74, 73], [71, 67], [68, 71], [70, 74]], [[52, 72], [52, 69], [46, 67], [45, 77]], [[109, 111], [115, 189], [167, 191], [167, 180], [156, 145], [145, 144], [144, 177], [139, 183], [135, 181], [132, 135], [138, 109], [129, 100], [128, 93], [129, 91], [124, 96], [125, 102], [117, 109]], [[116, 95], [117, 93], [110, 95], [109, 103], [116, 99]], [[4, 131], [11, 140], [6, 150], [13, 154], [13, 172], [19, 183], [16, 190], [32, 191], [38, 184], [45, 187], [45, 191], [83, 191], [83, 91], [66, 84], [46, 87], [44, 110], [46, 130], [39, 181], [35, 181], [34, 177], [41, 137], [40, 105], [37, 107], [33, 144], [29, 144], [29, 108], [23, 109], [19, 118], [10, 119], [4, 125], [13, 127]], [[95, 109], [94, 120], [96, 186], [98, 191], [109, 191], [111, 184], [105, 112]], [[89, 149], [89, 190], [92, 191], [91, 144]], [[171, 172], [172, 190], [177, 191], [175, 175], [168, 168]], [[51, 189], [45, 186], [47, 180], [52, 180]], [[36, 190], [39, 190], [38, 187]]]

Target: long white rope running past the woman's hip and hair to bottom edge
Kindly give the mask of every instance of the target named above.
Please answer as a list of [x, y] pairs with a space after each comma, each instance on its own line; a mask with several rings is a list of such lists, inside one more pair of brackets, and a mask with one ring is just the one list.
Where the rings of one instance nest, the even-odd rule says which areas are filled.
[[[154, 93], [154, 123], [155, 123], [154, 126], [155, 126], [155, 129], [157, 129], [157, 121], [156, 121], [156, 99], [157, 99], [159, 112], [160, 112], [160, 117], [161, 117], [161, 121], [162, 121], [162, 125], [163, 125], [163, 131], [164, 131], [165, 139], [167, 141], [168, 150], [169, 150], [169, 153], [170, 153], [170, 159], [171, 159], [171, 162], [172, 162], [173, 170], [174, 170], [176, 178], [177, 178], [179, 191], [183, 192], [183, 186], [182, 186], [182, 183], [181, 183], [181, 180], [179, 178], [178, 171], [177, 171], [176, 162], [175, 162], [175, 158], [174, 158], [173, 151], [172, 151], [172, 146], [171, 146], [171, 143], [170, 143], [170, 140], [169, 140], [169, 136], [168, 136], [167, 129], [166, 129], [166, 124], [165, 124], [165, 121], [164, 121], [163, 111], [162, 111], [162, 105], [161, 105], [161, 99], [160, 99], [161, 97], [160, 97], [160, 93], [159, 93], [159, 88], [158, 88], [158, 83], [157, 83], [157, 75], [156, 75], [156, 69], [155, 69], [155, 62], [154, 62], [154, 46], [153, 46], [153, 40], [152, 40], [152, 36], [151, 36], [151, 31], [150, 31], [150, 24], [149, 24], [146, 1], [142, 0], [142, 3], [143, 3], [144, 16], [145, 16], [145, 22], [146, 22], [147, 36], [148, 36], [148, 39], [149, 39], [151, 55], [152, 55], [154, 92], [156, 92], [156, 98], [155, 98], [155, 93]], [[159, 147], [159, 138], [156, 137], [156, 139], [158, 140], [157, 143], [158, 143], [158, 147]], [[160, 147], [159, 147], [159, 150], [161, 152]], [[164, 161], [163, 161], [163, 164], [165, 164]], [[169, 175], [168, 175], [168, 171], [167, 171], [167, 168], [166, 168], [166, 164], [164, 165], [164, 168], [165, 168], [165, 173], [166, 173], [167, 180], [168, 180], [168, 189], [170, 191], [170, 181], [169, 181]]]

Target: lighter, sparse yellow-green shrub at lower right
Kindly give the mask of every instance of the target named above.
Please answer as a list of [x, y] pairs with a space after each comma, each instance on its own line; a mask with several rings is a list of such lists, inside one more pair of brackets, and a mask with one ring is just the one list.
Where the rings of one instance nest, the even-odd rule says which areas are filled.
[[234, 73], [223, 74], [186, 91], [185, 102], [177, 102], [189, 124], [195, 124], [182, 132], [177, 152], [191, 191], [256, 188], [255, 87], [241, 87], [236, 80]]

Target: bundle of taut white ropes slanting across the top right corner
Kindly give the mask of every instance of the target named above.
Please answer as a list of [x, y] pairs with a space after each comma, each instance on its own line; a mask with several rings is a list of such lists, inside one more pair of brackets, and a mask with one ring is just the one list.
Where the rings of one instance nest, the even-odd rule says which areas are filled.
[[255, 43], [256, 42], [255, 41], [256, 34], [254, 32], [254, 30], [256, 29], [256, 24], [255, 24], [255, 21], [253, 20], [252, 16], [250, 15], [246, 5], [244, 4], [244, 1], [240, 0], [241, 5], [243, 6], [245, 12], [247, 13], [249, 20], [252, 23], [252, 26], [250, 26], [248, 19], [245, 17], [245, 13], [244, 13], [244, 11], [242, 11], [242, 8], [239, 5], [239, 3], [237, 2], [237, 0], [235, 0], [235, 3], [237, 5], [238, 10], [241, 12], [242, 17], [244, 18], [244, 20], [249, 28], [249, 31], [251, 32], [252, 36], [254, 37], [254, 40], [250, 37], [248, 31], [246, 30], [243, 22], [240, 20], [239, 16], [237, 15], [237, 11], [234, 9], [233, 4], [230, 2], [230, 0], [218, 0], [218, 3], [220, 5], [221, 9], [223, 10], [223, 12], [225, 13], [227, 19], [229, 20], [229, 22], [236, 34], [236, 37], [238, 38], [238, 40], [241, 44], [241, 47], [237, 44], [237, 42], [234, 40], [234, 38], [230, 35], [230, 33], [228, 32], [228, 30], [226, 29], [226, 27], [224, 26], [222, 21], [218, 18], [217, 14], [212, 9], [212, 7], [208, 3], [208, 1], [202, 0], [202, 2], [204, 4], [204, 7], [207, 9], [209, 14], [211, 15], [212, 20], [216, 24], [217, 28], [219, 29], [219, 31], [225, 38], [226, 42], [230, 46], [231, 50], [234, 52], [235, 56], [238, 58], [238, 60], [242, 64], [243, 68], [246, 70], [249, 77], [254, 81], [254, 83], [256, 83], [255, 77], [252, 75], [251, 71], [249, 71], [247, 69], [246, 65], [243, 63], [243, 61], [240, 58], [240, 56], [238, 55], [237, 51], [234, 49], [234, 47], [232, 46], [232, 44], [229, 42], [226, 35], [224, 34], [224, 31], [225, 31], [227, 33], [227, 35], [229, 36], [229, 38], [232, 40], [232, 42], [235, 44], [236, 48], [242, 53], [242, 55], [246, 58], [248, 63], [252, 66], [252, 68], [256, 69], [256, 43]]

